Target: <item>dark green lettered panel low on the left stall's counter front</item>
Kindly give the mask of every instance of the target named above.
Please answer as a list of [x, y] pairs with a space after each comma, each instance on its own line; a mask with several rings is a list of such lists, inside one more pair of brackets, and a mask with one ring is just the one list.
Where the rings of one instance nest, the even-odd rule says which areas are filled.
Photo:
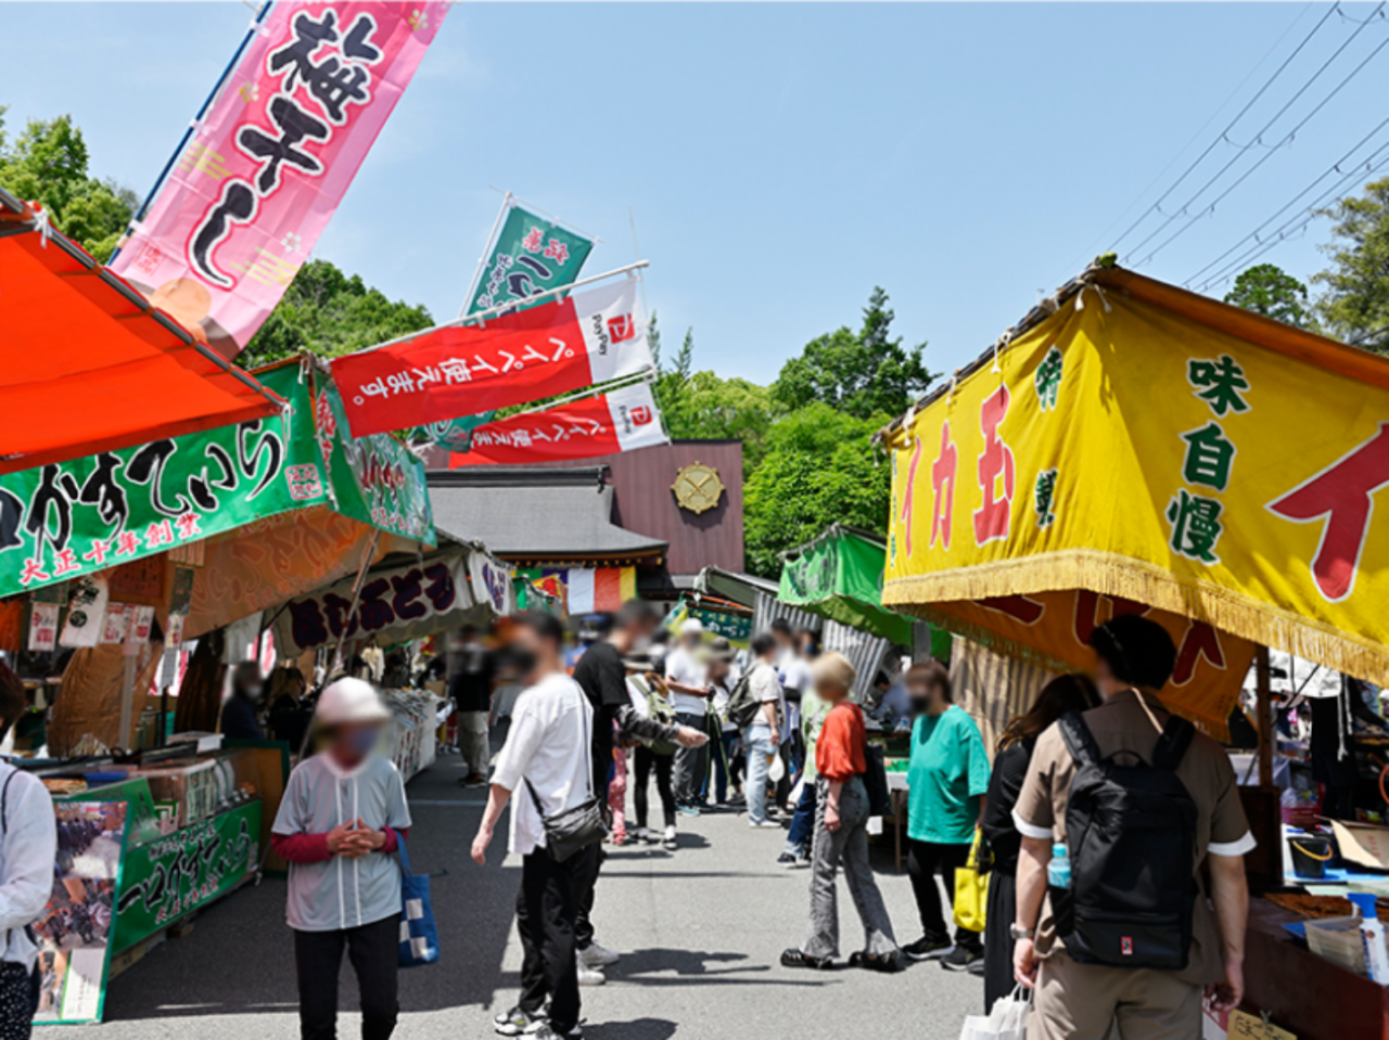
[[111, 948], [119, 953], [235, 887], [260, 865], [261, 803], [128, 847]]

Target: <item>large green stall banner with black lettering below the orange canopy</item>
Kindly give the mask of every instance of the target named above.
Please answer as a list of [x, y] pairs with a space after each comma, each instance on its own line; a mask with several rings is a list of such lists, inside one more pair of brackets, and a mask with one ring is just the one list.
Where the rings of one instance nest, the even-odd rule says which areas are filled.
[[325, 503], [433, 544], [419, 460], [385, 435], [350, 440], [326, 375], [317, 410], [300, 365], [260, 379], [288, 415], [0, 476], [0, 597]]

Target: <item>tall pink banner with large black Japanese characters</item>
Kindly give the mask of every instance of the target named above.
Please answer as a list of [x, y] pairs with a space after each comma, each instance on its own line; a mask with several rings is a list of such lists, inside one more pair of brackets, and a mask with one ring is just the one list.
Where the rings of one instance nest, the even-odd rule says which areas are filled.
[[236, 357], [328, 226], [447, 10], [276, 4], [115, 272]]

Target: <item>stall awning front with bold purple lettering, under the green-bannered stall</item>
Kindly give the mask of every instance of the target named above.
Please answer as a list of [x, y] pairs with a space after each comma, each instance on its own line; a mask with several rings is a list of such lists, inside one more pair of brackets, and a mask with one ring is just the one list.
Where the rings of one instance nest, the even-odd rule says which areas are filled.
[[353, 607], [356, 578], [290, 600], [275, 619], [275, 648], [294, 655], [339, 639], [376, 636], [399, 643], [429, 635], [439, 615], [474, 605], [465, 553], [389, 569], [372, 569]]

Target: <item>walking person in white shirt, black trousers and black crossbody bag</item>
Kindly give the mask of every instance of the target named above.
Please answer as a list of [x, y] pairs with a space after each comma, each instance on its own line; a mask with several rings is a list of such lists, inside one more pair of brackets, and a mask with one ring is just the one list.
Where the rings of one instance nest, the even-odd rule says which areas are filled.
[[[488, 808], [472, 841], [472, 858], [488, 862], [488, 846], [513, 791], [526, 791], [511, 808], [508, 848], [521, 857], [517, 932], [521, 934], [521, 1000], [497, 1015], [501, 1036], [582, 1037], [574, 926], [578, 915], [571, 861], [556, 862], [544, 847], [546, 816], [593, 797], [593, 708], [564, 672], [564, 629], [549, 614], [513, 618], [508, 650], [529, 686], [517, 697], [511, 732], [497, 755]], [[575, 857], [578, 858], [578, 857]], [[544, 1004], [550, 1001], [546, 1021]]]

